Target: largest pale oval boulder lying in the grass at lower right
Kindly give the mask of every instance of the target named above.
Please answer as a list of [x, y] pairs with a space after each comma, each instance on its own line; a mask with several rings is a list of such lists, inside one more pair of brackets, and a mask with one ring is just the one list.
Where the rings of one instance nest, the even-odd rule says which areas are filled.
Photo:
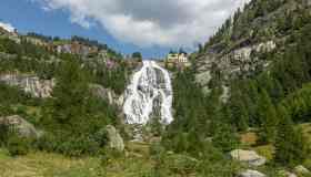
[[230, 156], [232, 159], [245, 163], [250, 166], [261, 166], [267, 162], [264, 157], [252, 150], [235, 149], [230, 153]]

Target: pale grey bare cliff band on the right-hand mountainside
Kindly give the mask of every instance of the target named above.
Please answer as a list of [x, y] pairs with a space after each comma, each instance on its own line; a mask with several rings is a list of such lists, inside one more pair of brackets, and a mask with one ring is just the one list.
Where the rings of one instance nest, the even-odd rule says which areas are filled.
[[227, 81], [241, 74], [250, 74], [259, 66], [267, 67], [270, 64], [268, 61], [259, 60], [258, 56], [253, 56], [252, 54], [270, 52], [275, 48], [277, 44], [274, 41], [268, 41], [238, 48], [227, 53], [218, 53], [218, 51], [210, 49], [205, 54], [198, 56], [195, 81], [208, 91], [207, 85], [212, 80], [211, 71], [213, 69], [221, 71]]

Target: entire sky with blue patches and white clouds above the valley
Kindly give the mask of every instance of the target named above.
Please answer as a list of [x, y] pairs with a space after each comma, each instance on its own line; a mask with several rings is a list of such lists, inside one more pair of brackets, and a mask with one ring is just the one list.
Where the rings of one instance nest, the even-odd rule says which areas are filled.
[[123, 54], [162, 58], [195, 50], [249, 0], [1, 0], [0, 22], [21, 33], [107, 43]]

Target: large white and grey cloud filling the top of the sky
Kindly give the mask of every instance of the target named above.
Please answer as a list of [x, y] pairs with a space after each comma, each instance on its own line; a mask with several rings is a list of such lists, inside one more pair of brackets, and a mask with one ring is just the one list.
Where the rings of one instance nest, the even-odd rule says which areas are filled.
[[116, 39], [140, 46], [188, 46], [204, 42], [249, 0], [37, 0], [67, 10], [84, 28], [97, 22]]

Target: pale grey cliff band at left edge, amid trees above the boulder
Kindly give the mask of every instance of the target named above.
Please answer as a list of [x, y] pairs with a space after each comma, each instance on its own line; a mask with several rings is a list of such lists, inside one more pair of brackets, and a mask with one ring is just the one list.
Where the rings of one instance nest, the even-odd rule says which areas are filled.
[[4, 74], [0, 75], [0, 82], [20, 87], [26, 93], [34, 97], [51, 97], [54, 80], [40, 80], [38, 76], [26, 74]]

